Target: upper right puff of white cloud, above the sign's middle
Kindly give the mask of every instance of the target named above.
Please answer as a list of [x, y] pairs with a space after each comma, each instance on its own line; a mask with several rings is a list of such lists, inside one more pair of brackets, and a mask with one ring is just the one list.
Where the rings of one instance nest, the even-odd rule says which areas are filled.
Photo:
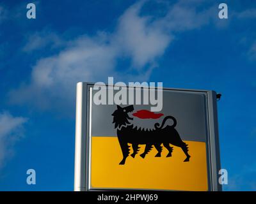
[[141, 4], [131, 6], [120, 17], [118, 31], [113, 41], [117, 47], [132, 58], [134, 67], [140, 69], [154, 61], [172, 40], [170, 32], [165, 32], [150, 17], [140, 17]]

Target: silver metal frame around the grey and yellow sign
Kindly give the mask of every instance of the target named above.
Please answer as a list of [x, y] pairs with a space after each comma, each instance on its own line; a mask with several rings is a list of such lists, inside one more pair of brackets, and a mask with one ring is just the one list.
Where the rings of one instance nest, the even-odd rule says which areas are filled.
[[[93, 83], [77, 83], [76, 92], [76, 147], [75, 147], [75, 171], [74, 191], [99, 191], [108, 189], [92, 189], [90, 187], [90, 88]], [[108, 86], [108, 85], [107, 85]], [[218, 116], [216, 92], [193, 89], [170, 89], [169, 91], [203, 92], [206, 94], [207, 105], [207, 170], [209, 191], [221, 191], [218, 182], [220, 170], [220, 148], [218, 140]], [[113, 189], [109, 189], [113, 190]], [[116, 189], [115, 189], [116, 190]], [[121, 189], [120, 189], [121, 190]], [[124, 190], [124, 189], [122, 189]], [[136, 189], [141, 190], [141, 189]]]

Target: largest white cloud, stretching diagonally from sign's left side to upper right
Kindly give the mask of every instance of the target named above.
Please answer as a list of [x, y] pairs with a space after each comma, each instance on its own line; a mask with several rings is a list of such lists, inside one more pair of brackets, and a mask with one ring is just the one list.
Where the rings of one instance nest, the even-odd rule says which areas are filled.
[[[147, 81], [175, 33], [207, 24], [211, 13], [211, 9], [196, 11], [196, 6], [179, 1], [168, 8], [164, 17], [153, 18], [140, 14], [143, 4], [140, 1], [128, 8], [113, 33], [79, 36], [65, 43], [59, 54], [39, 59], [29, 84], [10, 92], [12, 103], [63, 110], [74, 104], [77, 82], [106, 81], [111, 76], [115, 80]], [[35, 34], [25, 50], [54, 41], [49, 40], [52, 36]], [[131, 66], [118, 68], [119, 59], [131, 60]]]

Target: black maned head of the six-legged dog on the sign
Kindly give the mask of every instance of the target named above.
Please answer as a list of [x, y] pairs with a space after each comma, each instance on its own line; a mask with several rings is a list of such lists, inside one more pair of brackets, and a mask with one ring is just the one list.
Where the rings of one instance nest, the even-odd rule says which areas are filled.
[[132, 120], [132, 118], [129, 117], [128, 113], [132, 112], [133, 110], [133, 105], [126, 106], [124, 108], [117, 105], [117, 109], [112, 113], [115, 128], [122, 128], [122, 126], [126, 127], [127, 124], [131, 124], [129, 120]]

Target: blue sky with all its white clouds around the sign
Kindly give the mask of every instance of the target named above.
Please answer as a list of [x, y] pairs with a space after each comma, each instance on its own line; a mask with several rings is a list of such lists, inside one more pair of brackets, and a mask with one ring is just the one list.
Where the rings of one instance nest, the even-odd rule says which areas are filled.
[[256, 190], [255, 1], [28, 3], [0, 1], [0, 191], [72, 191], [76, 83], [108, 77], [221, 92], [223, 189]]

